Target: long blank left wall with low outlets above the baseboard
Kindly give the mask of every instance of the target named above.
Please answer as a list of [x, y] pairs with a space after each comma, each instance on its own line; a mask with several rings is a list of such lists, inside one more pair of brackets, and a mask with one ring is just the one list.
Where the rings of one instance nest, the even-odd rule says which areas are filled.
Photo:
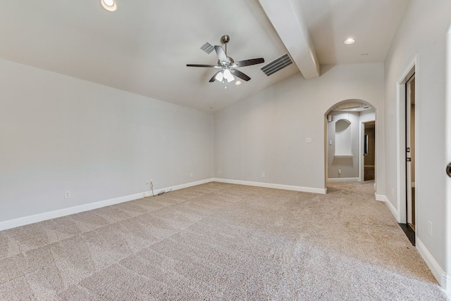
[[212, 177], [211, 114], [6, 60], [0, 104], [0, 222]]

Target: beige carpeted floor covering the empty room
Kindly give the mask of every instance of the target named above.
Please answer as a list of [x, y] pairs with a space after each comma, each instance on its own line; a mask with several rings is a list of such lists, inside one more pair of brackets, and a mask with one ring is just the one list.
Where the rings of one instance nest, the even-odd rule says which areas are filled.
[[0, 232], [0, 300], [447, 300], [373, 181], [210, 183]]

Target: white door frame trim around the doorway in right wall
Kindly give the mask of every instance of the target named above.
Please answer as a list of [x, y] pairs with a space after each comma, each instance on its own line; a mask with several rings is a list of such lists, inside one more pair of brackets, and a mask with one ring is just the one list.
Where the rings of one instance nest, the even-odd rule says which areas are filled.
[[[418, 103], [418, 56], [414, 56], [413, 60], [407, 68], [405, 69], [404, 73], [400, 77], [400, 79], [397, 81], [396, 84], [396, 94], [397, 94], [397, 108], [396, 108], [396, 115], [397, 115], [397, 122], [396, 122], [396, 129], [397, 129], [397, 158], [396, 158], [396, 175], [397, 175], [397, 193], [396, 193], [396, 200], [397, 200], [397, 214], [396, 219], [397, 222], [401, 224], [407, 224], [407, 196], [406, 196], [406, 85], [409, 81], [410, 77], [415, 73], [415, 96], [416, 101], [415, 103]], [[415, 105], [415, 114], [416, 117], [418, 110], [417, 105]], [[417, 123], [416, 123], [417, 124]], [[416, 126], [416, 125], [415, 125]], [[415, 130], [415, 133], [417, 131]], [[415, 139], [415, 143], [417, 143]], [[416, 158], [419, 158], [418, 155], [418, 148], [415, 148], [416, 151]], [[418, 162], [418, 160], [416, 160]], [[416, 179], [418, 179], [419, 175], [416, 173]], [[416, 185], [418, 185], [418, 181], [416, 182]], [[417, 189], [415, 189], [416, 193]], [[392, 196], [394, 197], [394, 188]], [[415, 200], [416, 202], [418, 200]], [[418, 206], [415, 206], [415, 210]], [[416, 217], [416, 212], [415, 212]]]

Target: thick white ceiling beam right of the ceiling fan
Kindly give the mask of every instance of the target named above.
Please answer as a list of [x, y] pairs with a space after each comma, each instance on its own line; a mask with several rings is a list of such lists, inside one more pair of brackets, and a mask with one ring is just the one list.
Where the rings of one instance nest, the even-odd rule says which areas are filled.
[[259, 1], [304, 78], [319, 77], [318, 58], [302, 11], [290, 0]]

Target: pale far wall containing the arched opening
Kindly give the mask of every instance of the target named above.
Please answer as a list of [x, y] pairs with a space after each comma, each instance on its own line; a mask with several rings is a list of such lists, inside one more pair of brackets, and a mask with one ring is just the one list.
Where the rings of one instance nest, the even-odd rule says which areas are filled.
[[325, 65], [321, 71], [321, 77], [308, 81], [293, 75], [216, 113], [215, 177], [324, 188], [324, 115], [336, 103], [357, 98], [383, 118], [383, 64]]

